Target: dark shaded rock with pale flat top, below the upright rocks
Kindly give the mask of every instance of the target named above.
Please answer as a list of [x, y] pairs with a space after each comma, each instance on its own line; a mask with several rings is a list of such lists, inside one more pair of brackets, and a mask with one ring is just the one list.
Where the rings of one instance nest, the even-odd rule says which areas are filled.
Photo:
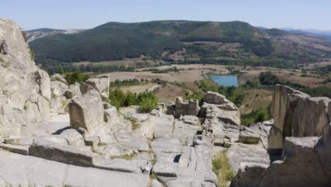
[[316, 142], [318, 137], [286, 137], [283, 160], [269, 166], [259, 186], [330, 186], [314, 150]]

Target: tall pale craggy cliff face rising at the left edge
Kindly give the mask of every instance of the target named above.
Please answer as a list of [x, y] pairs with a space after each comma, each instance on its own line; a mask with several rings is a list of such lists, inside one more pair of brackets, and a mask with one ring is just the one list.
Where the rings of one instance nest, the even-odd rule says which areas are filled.
[[50, 78], [31, 60], [21, 28], [0, 18], [0, 134], [50, 118]]

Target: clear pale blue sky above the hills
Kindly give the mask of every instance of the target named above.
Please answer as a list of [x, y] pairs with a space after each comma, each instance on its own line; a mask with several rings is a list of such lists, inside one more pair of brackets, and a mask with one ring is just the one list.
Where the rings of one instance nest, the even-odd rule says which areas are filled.
[[0, 17], [25, 30], [178, 19], [331, 30], [330, 0], [1, 0], [0, 6]]

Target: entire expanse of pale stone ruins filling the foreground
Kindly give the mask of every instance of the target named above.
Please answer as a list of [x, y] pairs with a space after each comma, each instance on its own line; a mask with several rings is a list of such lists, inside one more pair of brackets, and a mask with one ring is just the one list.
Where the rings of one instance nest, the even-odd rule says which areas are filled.
[[[277, 85], [274, 120], [240, 126], [221, 94], [177, 98], [151, 113], [103, 102], [108, 77], [68, 85], [35, 67], [21, 28], [0, 19], [0, 186], [330, 186], [329, 98]], [[134, 120], [133, 120], [134, 119]]]

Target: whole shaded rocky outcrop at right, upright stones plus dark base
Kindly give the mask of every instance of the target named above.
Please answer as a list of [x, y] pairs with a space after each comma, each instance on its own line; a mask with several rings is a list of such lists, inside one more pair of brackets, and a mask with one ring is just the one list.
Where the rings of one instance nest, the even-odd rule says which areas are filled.
[[[330, 186], [329, 107], [330, 98], [313, 98], [277, 85], [272, 101], [274, 125], [269, 133], [272, 163], [269, 167], [240, 163], [243, 167], [231, 186]], [[272, 148], [281, 150], [280, 158]]]

